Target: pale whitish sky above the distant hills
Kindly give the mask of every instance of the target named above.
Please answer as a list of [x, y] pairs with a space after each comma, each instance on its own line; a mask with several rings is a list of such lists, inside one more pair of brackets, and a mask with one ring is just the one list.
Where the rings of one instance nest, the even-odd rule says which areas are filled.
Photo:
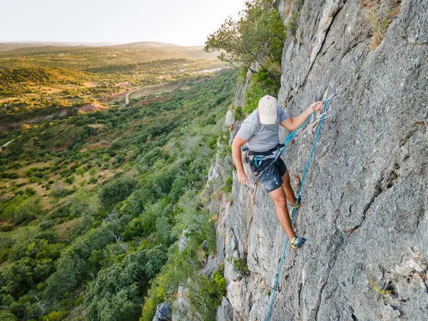
[[202, 45], [244, 0], [0, 0], [0, 42]]

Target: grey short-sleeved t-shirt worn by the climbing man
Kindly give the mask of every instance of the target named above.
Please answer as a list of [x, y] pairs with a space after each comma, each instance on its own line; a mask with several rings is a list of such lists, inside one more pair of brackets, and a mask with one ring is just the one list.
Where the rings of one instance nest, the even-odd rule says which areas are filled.
[[260, 123], [258, 110], [255, 109], [245, 121], [243, 121], [237, 135], [247, 141], [250, 151], [268, 151], [280, 142], [280, 123], [288, 118], [284, 109], [277, 108], [277, 120], [272, 125]]

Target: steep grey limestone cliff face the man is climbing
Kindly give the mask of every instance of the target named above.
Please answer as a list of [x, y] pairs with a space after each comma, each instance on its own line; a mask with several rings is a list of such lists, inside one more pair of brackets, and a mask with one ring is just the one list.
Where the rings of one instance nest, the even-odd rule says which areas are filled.
[[[372, 1], [302, 2], [277, 1], [289, 25], [278, 100], [297, 116], [313, 101], [334, 92], [337, 98], [295, 219], [307, 242], [287, 249], [270, 320], [427, 320], [428, 3], [376, 1], [393, 14], [372, 50], [365, 18]], [[283, 156], [292, 178], [305, 168], [315, 127]], [[286, 240], [272, 200], [245, 170], [250, 185], [234, 177], [218, 215], [228, 281], [218, 320], [265, 320]]]

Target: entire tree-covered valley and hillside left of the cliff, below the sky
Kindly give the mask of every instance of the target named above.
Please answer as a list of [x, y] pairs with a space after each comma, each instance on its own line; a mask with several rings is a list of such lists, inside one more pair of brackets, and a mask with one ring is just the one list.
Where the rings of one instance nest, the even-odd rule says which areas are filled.
[[0, 53], [1, 320], [151, 320], [188, 277], [223, 297], [201, 192], [237, 71], [114, 50]]

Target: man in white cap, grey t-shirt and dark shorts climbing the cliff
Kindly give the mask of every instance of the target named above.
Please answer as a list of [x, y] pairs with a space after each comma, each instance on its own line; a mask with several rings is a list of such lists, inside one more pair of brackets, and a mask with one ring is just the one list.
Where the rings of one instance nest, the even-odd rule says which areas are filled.
[[267, 190], [273, 202], [277, 219], [287, 234], [292, 248], [300, 248], [305, 238], [298, 238], [291, 225], [287, 210], [287, 200], [298, 208], [294, 192], [290, 185], [290, 175], [284, 161], [280, 158], [282, 144], [279, 143], [280, 125], [289, 131], [295, 131], [302, 125], [313, 111], [318, 112], [322, 101], [312, 103], [300, 116], [288, 116], [277, 100], [272, 96], [263, 96], [258, 102], [258, 108], [243, 121], [232, 143], [232, 157], [238, 171], [238, 180], [248, 185], [248, 178], [244, 172], [241, 146], [248, 145], [248, 163], [253, 174]]

